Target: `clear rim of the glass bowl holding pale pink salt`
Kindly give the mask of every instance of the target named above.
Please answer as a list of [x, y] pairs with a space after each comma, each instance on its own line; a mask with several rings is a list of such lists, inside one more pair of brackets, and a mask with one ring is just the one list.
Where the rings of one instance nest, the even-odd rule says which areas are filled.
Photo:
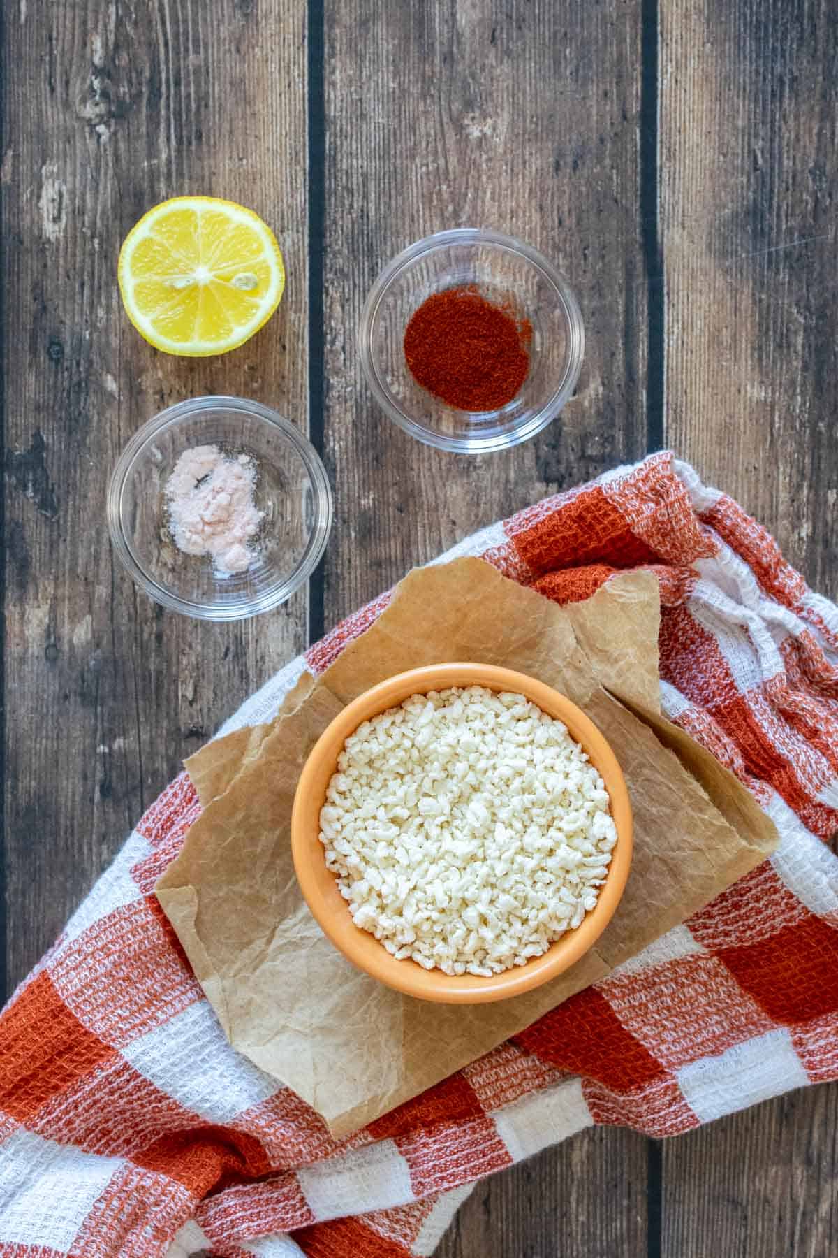
[[[197, 603], [192, 599], [183, 599], [171, 590], [165, 589], [142, 566], [133, 548], [128, 543], [126, 530], [122, 522], [123, 496], [133, 470], [137, 458], [144, 452], [147, 445], [162, 431], [177, 428], [187, 419], [195, 419], [205, 413], [217, 410], [244, 413], [260, 420], [266, 428], [279, 429], [295, 452], [308, 473], [313, 492], [314, 521], [309, 533], [305, 550], [298, 566], [281, 581], [275, 582], [258, 598], [240, 599], [236, 603], [216, 606], [206, 603]], [[187, 398], [161, 410], [152, 419], [147, 420], [142, 428], [137, 429], [122, 450], [114, 469], [111, 474], [107, 494], [107, 517], [111, 542], [119, 557], [123, 567], [131, 574], [137, 585], [156, 603], [177, 611], [181, 615], [195, 616], [200, 620], [231, 621], [245, 620], [270, 611], [288, 601], [290, 596], [312, 575], [327, 547], [332, 531], [334, 503], [332, 487], [325, 473], [323, 460], [314, 449], [309, 439], [280, 415], [279, 411], [250, 398], [234, 398], [225, 394], [207, 394], [200, 398]]]

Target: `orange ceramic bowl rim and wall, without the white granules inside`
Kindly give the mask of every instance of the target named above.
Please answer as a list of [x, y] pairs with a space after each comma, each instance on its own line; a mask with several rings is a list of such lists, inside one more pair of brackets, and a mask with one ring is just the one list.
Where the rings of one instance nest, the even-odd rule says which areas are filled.
[[[485, 686], [492, 691], [525, 694], [543, 712], [558, 717], [588, 752], [599, 770], [611, 796], [611, 815], [617, 828], [608, 874], [599, 889], [597, 906], [574, 931], [567, 931], [541, 956], [486, 979], [474, 974], [447, 975], [425, 970], [416, 961], [397, 961], [368, 931], [354, 925], [347, 901], [334, 874], [327, 868], [325, 849], [319, 839], [320, 809], [337, 770], [346, 740], [363, 721], [397, 707], [411, 694], [442, 691], [450, 686]], [[349, 703], [320, 735], [300, 775], [291, 815], [294, 867], [305, 901], [324, 933], [340, 952], [373, 979], [387, 986], [445, 1004], [482, 1004], [505, 1000], [548, 982], [578, 961], [599, 938], [623, 893], [632, 860], [632, 810], [622, 770], [611, 746], [575, 703], [544, 686], [543, 682], [491, 664], [431, 664], [389, 677]]]

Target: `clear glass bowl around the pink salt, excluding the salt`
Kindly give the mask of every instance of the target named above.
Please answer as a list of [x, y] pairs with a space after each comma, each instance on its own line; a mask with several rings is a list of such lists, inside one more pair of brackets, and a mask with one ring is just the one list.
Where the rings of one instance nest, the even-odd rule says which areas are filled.
[[[256, 465], [264, 520], [246, 572], [220, 576], [185, 555], [168, 525], [166, 483], [183, 450], [217, 445]], [[241, 620], [279, 606], [317, 567], [332, 527], [332, 491], [314, 447], [276, 411], [241, 398], [193, 398], [132, 437], [108, 487], [108, 528], [138, 585], [163, 606], [205, 620]]]

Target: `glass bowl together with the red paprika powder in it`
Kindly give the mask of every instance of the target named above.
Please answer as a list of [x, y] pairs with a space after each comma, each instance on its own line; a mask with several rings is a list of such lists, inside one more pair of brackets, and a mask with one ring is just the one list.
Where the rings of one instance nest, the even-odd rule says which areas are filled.
[[584, 327], [573, 289], [536, 249], [456, 228], [410, 245], [364, 303], [361, 362], [411, 437], [501, 450], [535, 437], [573, 394]]

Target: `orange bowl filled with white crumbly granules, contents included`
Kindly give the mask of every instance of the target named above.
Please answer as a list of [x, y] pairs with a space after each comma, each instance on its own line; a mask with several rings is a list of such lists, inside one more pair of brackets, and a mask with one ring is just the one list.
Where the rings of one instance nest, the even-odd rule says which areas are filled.
[[511, 669], [436, 664], [328, 726], [291, 847], [349, 961], [406, 995], [479, 1004], [594, 945], [628, 877], [632, 811], [609, 743], [570, 699]]

